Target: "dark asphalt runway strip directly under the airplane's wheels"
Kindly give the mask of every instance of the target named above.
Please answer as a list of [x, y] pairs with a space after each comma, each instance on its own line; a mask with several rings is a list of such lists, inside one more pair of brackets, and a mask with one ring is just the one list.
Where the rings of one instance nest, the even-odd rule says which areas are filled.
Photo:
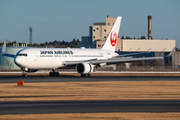
[[180, 76], [0, 76], [0, 83], [34, 82], [91, 82], [91, 81], [180, 81]]

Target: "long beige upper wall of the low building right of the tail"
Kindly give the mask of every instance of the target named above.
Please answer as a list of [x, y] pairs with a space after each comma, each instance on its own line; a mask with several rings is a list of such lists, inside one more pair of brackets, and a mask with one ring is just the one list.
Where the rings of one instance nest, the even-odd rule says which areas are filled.
[[123, 51], [171, 51], [175, 46], [175, 40], [139, 40], [123, 39]]

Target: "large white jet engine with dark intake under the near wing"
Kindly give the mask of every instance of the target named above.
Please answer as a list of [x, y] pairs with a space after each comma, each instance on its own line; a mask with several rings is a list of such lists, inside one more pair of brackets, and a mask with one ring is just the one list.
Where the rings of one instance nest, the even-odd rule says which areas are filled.
[[94, 68], [90, 63], [84, 62], [77, 64], [76, 70], [80, 74], [90, 74], [91, 72], [93, 72]]

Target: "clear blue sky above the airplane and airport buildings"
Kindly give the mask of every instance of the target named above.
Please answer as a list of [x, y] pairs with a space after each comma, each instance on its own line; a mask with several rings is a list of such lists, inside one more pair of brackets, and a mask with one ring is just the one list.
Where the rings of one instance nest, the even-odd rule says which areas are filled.
[[[122, 16], [120, 37], [147, 38], [147, 16], [152, 16], [154, 39], [180, 43], [180, 0], [0, 0], [0, 42], [33, 43], [80, 39], [89, 26]], [[179, 45], [180, 46], [180, 45]]]

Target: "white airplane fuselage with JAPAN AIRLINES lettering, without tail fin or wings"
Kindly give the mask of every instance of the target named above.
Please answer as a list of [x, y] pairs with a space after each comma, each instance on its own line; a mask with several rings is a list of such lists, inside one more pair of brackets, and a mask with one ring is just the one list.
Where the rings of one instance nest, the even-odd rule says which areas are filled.
[[85, 48], [27, 48], [17, 53], [14, 61], [28, 69], [55, 69], [64, 67], [65, 61], [108, 59], [118, 54], [102, 49]]

